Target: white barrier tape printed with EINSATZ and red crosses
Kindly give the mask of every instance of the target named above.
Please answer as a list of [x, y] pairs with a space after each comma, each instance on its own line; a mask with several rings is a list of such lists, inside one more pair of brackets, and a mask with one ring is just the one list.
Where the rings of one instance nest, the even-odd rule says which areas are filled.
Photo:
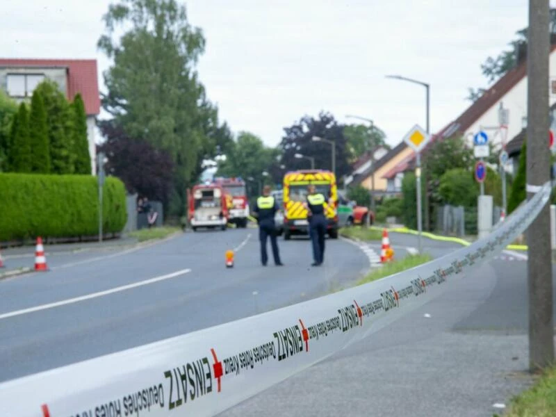
[[429, 302], [537, 217], [547, 183], [487, 238], [369, 284], [0, 384], [0, 416], [212, 416]]

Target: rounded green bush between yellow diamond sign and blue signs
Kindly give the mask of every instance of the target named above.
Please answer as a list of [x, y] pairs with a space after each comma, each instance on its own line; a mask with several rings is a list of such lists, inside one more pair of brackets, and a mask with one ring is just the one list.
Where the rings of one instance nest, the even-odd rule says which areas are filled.
[[477, 205], [479, 188], [472, 172], [464, 168], [455, 168], [442, 175], [439, 195], [445, 204], [473, 207]]

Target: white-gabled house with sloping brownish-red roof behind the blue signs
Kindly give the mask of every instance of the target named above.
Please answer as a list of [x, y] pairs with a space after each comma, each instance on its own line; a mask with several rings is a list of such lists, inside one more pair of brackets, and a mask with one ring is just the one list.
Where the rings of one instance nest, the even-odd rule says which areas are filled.
[[[552, 37], [550, 49], [550, 106], [556, 103], [556, 36]], [[491, 88], [432, 136], [431, 142], [446, 138], [461, 137], [473, 146], [473, 135], [484, 130], [497, 152], [512, 138], [518, 136], [527, 124], [527, 59], [526, 49], [516, 51], [517, 64], [502, 76]], [[548, 136], [548, 132], [547, 132]], [[548, 139], [547, 139], [548, 141]], [[430, 144], [428, 145], [430, 146]], [[423, 152], [426, 152], [426, 148]], [[509, 170], [512, 171], [512, 164]], [[387, 181], [393, 181], [403, 172], [414, 170], [415, 154], [410, 154], [389, 172], [384, 174]]]

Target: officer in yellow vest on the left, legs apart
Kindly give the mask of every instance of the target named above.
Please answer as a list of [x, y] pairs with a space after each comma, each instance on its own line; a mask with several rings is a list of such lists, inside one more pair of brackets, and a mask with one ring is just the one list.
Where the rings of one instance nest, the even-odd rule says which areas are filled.
[[276, 227], [274, 224], [274, 216], [279, 210], [278, 204], [274, 197], [270, 195], [270, 186], [263, 188], [263, 195], [256, 199], [254, 213], [259, 223], [259, 240], [261, 240], [261, 262], [266, 266], [268, 262], [268, 254], [266, 253], [266, 239], [270, 237], [272, 245], [272, 256], [277, 266], [284, 265], [280, 261], [280, 252], [278, 251], [278, 243], [276, 241]]

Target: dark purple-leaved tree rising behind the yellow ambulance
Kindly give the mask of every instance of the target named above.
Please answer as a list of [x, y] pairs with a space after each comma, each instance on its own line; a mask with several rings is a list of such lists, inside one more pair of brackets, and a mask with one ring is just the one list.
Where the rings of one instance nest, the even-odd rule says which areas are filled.
[[295, 158], [295, 154], [315, 158], [317, 169], [332, 170], [331, 145], [322, 141], [313, 141], [313, 136], [332, 140], [336, 147], [336, 177], [341, 179], [351, 170], [348, 158], [347, 140], [343, 134], [343, 125], [338, 124], [330, 113], [321, 112], [318, 119], [305, 116], [299, 122], [284, 128], [286, 135], [282, 138], [279, 148], [282, 152], [281, 164], [288, 170], [308, 168], [309, 161]]

